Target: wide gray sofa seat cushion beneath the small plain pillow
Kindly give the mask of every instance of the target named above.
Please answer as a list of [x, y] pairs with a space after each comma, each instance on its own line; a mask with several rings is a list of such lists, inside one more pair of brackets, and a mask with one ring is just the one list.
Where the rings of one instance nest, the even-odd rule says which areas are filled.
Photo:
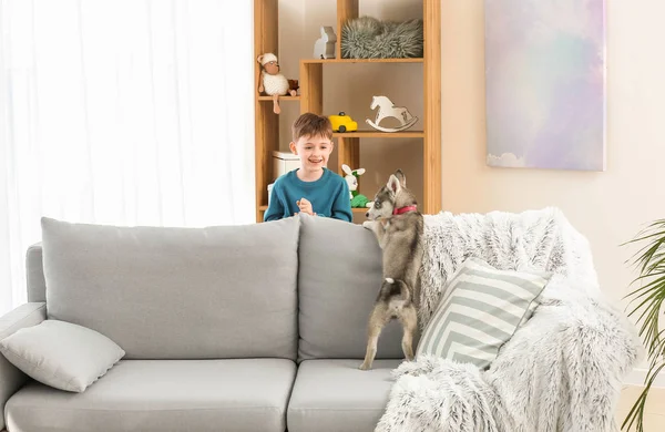
[[121, 360], [83, 393], [30, 382], [4, 413], [10, 431], [284, 432], [295, 376], [286, 359]]

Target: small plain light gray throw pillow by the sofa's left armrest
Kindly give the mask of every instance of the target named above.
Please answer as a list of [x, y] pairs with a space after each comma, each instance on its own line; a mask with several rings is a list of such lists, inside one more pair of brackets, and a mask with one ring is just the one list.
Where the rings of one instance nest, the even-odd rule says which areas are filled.
[[32, 379], [73, 392], [85, 390], [125, 354], [94, 330], [52, 319], [2, 339], [0, 351]]

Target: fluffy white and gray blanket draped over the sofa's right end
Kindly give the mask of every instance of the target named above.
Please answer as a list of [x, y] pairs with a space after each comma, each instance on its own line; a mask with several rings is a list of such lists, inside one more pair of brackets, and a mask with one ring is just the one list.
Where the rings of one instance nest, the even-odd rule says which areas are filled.
[[603, 300], [589, 244], [560, 210], [424, 216], [424, 245], [421, 328], [468, 257], [554, 276], [489, 370], [431, 357], [402, 363], [376, 431], [618, 430], [621, 385], [642, 344]]

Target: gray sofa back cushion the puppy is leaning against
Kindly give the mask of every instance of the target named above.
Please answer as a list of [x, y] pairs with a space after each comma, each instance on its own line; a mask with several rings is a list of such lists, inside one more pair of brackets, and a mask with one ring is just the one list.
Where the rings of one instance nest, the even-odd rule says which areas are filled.
[[[360, 225], [300, 219], [298, 358], [362, 359], [367, 321], [381, 287], [381, 249]], [[403, 358], [401, 335], [398, 321], [386, 326], [377, 359]]]

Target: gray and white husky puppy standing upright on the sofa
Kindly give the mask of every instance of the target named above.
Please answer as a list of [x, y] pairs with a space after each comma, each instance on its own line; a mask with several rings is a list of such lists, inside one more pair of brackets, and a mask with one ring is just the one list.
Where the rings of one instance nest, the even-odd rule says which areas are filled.
[[418, 327], [419, 278], [422, 264], [422, 214], [407, 177], [398, 169], [375, 195], [362, 224], [377, 236], [383, 251], [383, 281], [369, 317], [367, 351], [360, 369], [371, 369], [383, 327], [397, 318], [402, 325], [402, 351], [413, 359], [413, 333]]

